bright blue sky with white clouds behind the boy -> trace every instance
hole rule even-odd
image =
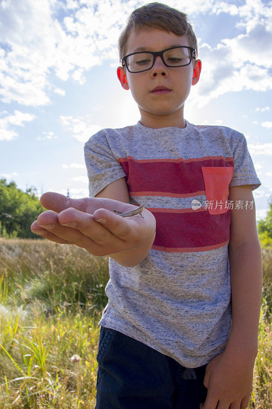
[[[88,196],[84,143],[140,120],[117,78],[118,37],[139,0],[0,0],[0,178],[37,195]],[[188,15],[202,62],[184,117],[245,135],[272,198],[272,2],[165,0]]]

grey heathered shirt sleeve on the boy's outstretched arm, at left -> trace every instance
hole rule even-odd
[[[95,133],[84,145],[85,163],[89,179],[89,197],[95,197],[111,182],[126,176],[112,153],[106,131]]]

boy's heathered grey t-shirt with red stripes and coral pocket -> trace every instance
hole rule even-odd
[[[222,352],[231,323],[229,186],[258,179],[242,133],[224,126],[102,129],[85,144],[89,195],[125,176],[130,203],[156,219],[149,255],[135,267],[109,258],[99,325],[187,368]],[[239,206],[250,206],[240,203]],[[139,216],[140,217],[140,216]]]

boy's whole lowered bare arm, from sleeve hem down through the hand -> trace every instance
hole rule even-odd
[[[232,328],[225,350],[207,365],[204,385],[208,394],[200,405],[203,409],[246,409],[258,352],[262,264],[251,186],[230,187],[229,200],[243,200],[242,209],[231,210]],[[244,208],[246,200],[253,200],[252,210]]]

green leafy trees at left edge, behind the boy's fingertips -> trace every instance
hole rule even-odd
[[[0,237],[37,237],[30,226],[45,209],[35,196],[36,192],[34,187],[23,192],[14,181],[7,183],[6,179],[0,179]]]

